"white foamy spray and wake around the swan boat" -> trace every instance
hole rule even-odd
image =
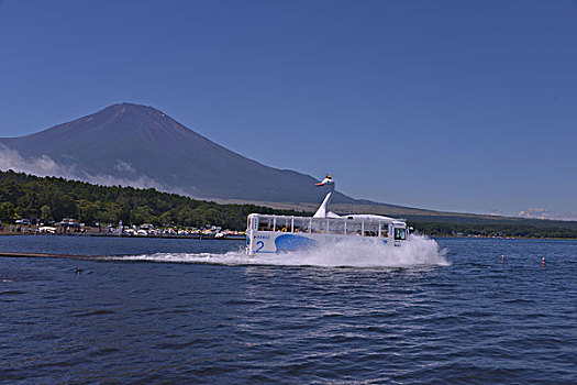
[[[319,249],[279,254],[247,256],[244,248],[224,254],[214,253],[156,253],[111,257],[121,261],[151,261],[177,263],[203,263],[222,265],[279,265],[279,266],[352,266],[352,267],[410,267],[450,266],[445,250],[429,238],[410,235],[401,248],[380,243],[346,240]]]

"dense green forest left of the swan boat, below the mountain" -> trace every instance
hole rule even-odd
[[[99,186],[60,177],[38,177],[13,170],[0,172],[0,220],[19,218],[60,221],[74,218],[96,223],[179,226],[207,224],[231,230],[246,228],[251,212],[303,216],[255,205],[219,205],[154,188]]]

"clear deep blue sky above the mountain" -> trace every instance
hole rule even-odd
[[[570,0],[0,2],[0,136],[121,101],[357,198],[577,212]]]

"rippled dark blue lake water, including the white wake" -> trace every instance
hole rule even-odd
[[[436,242],[1,237],[93,260],[0,257],[0,383],[577,383],[577,242]]]

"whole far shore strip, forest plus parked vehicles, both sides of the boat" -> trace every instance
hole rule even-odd
[[[153,188],[98,186],[12,170],[0,172],[0,220],[9,233],[228,239],[243,234],[246,217],[252,212],[312,215],[252,204],[221,205]],[[397,218],[406,219],[419,233],[431,237],[577,238],[577,221],[475,215],[399,215]],[[85,223],[84,228],[81,223]],[[219,227],[221,229],[217,230]]]

